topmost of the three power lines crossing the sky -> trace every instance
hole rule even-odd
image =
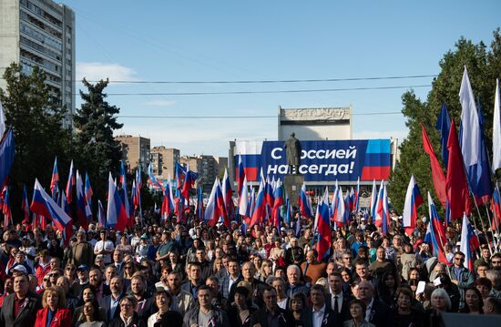
[[[348,78],[320,78],[320,79],[276,79],[276,80],[215,80],[215,81],[154,81],[154,80],[110,80],[115,84],[271,84],[271,83],[318,83],[318,82],[347,82],[363,80],[384,80],[384,79],[407,79],[437,77],[437,75],[408,75],[396,77],[348,77]],[[77,80],[81,83],[82,81]],[[98,81],[87,81],[97,83]]]

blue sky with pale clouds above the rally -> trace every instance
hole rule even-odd
[[[353,138],[402,140],[404,92],[425,99],[461,36],[490,44],[501,9],[497,0],[61,2],[76,13],[77,80],[110,79],[117,134],[223,157],[230,140],[277,139],[279,106],[353,106]],[[307,79],[323,81],[144,83]],[[255,93],[221,94],[240,91]]]

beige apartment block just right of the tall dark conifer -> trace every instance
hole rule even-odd
[[[142,171],[148,172],[150,162],[149,138],[119,135],[115,139],[122,145],[123,160],[128,165],[128,169],[134,170],[140,166]]]

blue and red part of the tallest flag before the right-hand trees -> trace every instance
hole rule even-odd
[[[466,167],[466,176],[469,181],[471,192],[475,196],[476,203],[481,205],[490,199],[492,194],[492,183],[489,158],[487,157],[486,138],[484,137],[485,119],[484,115],[482,115],[482,106],[480,105],[480,101],[476,107],[478,108],[478,122],[480,129],[480,148],[478,149],[480,157],[475,165]],[[461,128],[463,128],[463,125]]]

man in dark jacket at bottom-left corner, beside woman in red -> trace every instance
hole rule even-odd
[[[14,293],[5,297],[0,312],[0,326],[26,327],[35,325],[36,312],[42,308],[40,299],[30,293],[25,273],[15,273]]]

